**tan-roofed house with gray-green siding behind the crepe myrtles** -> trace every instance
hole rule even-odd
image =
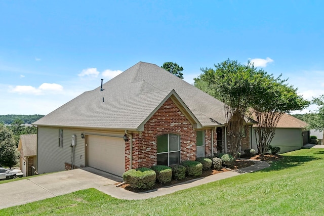
[[[289,114],[284,114],[276,126],[275,135],[270,145],[280,147],[279,153],[301,149],[303,145],[309,143],[309,131],[305,129],[306,127],[307,123],[304,121]],[[256,136],[253,130],[252,144],[252,148],[258,152]]]

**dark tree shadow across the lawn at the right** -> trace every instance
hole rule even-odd
[[[324,153],[324,151],[320,151]],[[320,154],[318,152],[318,154]],[[260,170],[260,172],[267,172],[272,170],[281,170],[281,169],[289,169],[296,166],[301,166],[304,163],[307,163],[312,160],[318,160],[320,158],[315,156],[282,156],[279,160],[275,160],[271,162],[269,168],[265,168]]]

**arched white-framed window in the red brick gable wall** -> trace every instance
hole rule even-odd
[[[164,134],[157,137],[157,165],[180,163],[180,136]]]

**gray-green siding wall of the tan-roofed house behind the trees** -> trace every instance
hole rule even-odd
[[[253,149],[258,151],[255,133],[252,133]],[[275,135],[271,141],[272,146],[280,147],[279,154],[301,149],[302,146],[302,132],[300,128],[276,128]]]

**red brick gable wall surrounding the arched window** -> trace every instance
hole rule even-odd
[[[195,160],[196,132],[189,120],[171,99],[168,99],[145,123],[141,134],[133,134],[133,167],[150,167],[157,163],[157,137],[180,135],[180,159]],[[209,141],[210,142],[210,141]],[[211,146],[209,144],[209,146]],[[206,147],[208,148],[208,147]],[[130,169],[130,142],[126,142],[126,170]]]

